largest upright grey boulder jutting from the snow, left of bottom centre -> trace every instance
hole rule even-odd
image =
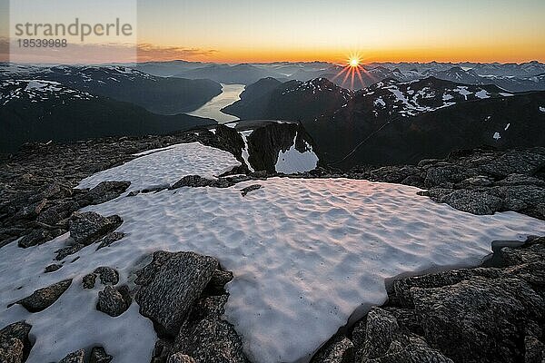
[[[175,336],[193,302],[212,279],[218,261],[193,252],[155,252],[136,284],[140,313]]]

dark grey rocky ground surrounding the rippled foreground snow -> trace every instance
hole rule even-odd
[[[127,182],[103,182],[92,190],[74,187],[85,177],[134,159],[134,153],[173,143],[199,141],[241,160],[237,132],[218,127],[170,136],[108,138],[71,144],[32,144],[5,157],[0,168],[0,248],[40,245],[64,233],[73,244],[56,251],[44,273],[62,269],[64,259],[90,245],[114,246],[118,216],[78,212],[127,190]],[[274,149],[272,147],[272,149]],[[276,152],[276,151],[274,151]],[[265,155],[266,156],[266,155]],[[266,160],[267,157],[263,157]],[[244,165],[244,164],[243,164]],[[170,186],[228,187],[275,172],[241,167],[217,181],[185,177]],[[338,172],[322,166],[300,177],[349,177],[426,188],[422,194],[461,211],[491,214],[519,211],[545,219],[545,149],[510,152],[476,150],[416,166],[361,168]],[[139,191],[153,192],[153,191]],[[342,329],[312,362],[540,362],[545,360],[545,240],[503,248],[499,260],[478,269],[453,270],[391,283],[388,303]],[[74,256],[74,259],[77,257]],[[61,262],[61,260],[64,260]],[[68,259],[69,260],[69,259]],[[493,265],[493,266],[490,266]],[[156,251],[137,272],[135,287],[119,284],[108,266],[85,276],[84,289],[100,287],[96,309],[111,317],[137,303],[151,319],[158,340],[154,362],[248,362],[241,338],[222,319],[233,274],[214,257],[191,251]],[[58,281],[15,301],[31,312],[48,309],[74,283]],[[1,328],[1,327],[0,327]],[[21,321],[0,330],[0,362],[24,362],[33,346],[32,326]],[[61,360],[109,362],[103,347],[82,347]]]

